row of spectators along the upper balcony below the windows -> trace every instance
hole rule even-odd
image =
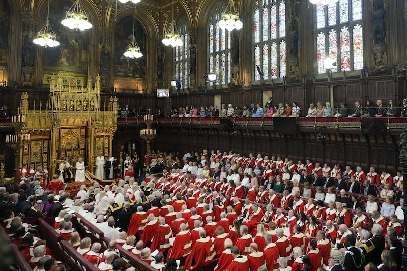
[[[383,104],[382,100],[367,100],[363,107],[360,101],[355,101],[355,107],[348,107],[344,102],[333,108],[330,102],[310,103],[309,108],[301,110],[297,102],[285,102],[273,105],[273,100],[269,100],[264,106],[260,103],[249,105],[221,104],[218,106],[184,106],[172,108],[169,112],[164,112],[161,108],[156,112],[158,117],[407,117],[407,98],[397,105],[392,99],[388,104]],[[146,110],[141,106],[138,110],[129,110],[128,105],[119,109],[118,116],[137,117],[143,116]]]

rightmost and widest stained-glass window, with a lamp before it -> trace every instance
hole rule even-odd
[[[336,61],[332,72],[363,68],[362,0],[339,0],[315,5],[317,73],[326,73],[327,57]]]

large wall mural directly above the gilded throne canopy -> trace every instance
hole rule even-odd
[[[45,48],[44,69],[84,74],[88,66],[90,31],[71,30],[61,24],[71,6],[71,2],[61,1],[49,9],[49,23],[60,46]]]

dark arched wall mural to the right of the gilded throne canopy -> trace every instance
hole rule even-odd
[[[146,34],[141,24],[135,20],[135,37],[142,57],[136,59],[123,55],[133,38],[133,16],[124,17],[116,26],[114,34],[114,76],[144,78],[146,76]]]

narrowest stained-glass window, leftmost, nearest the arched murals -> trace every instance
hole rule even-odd
[[[187,89],[189,82],[189,35],[187,18],[182,17],[177,22],[177,27],[180,33],[180,39],[184,44],[174,47],[174,79],[180,80],[182,89]]]

